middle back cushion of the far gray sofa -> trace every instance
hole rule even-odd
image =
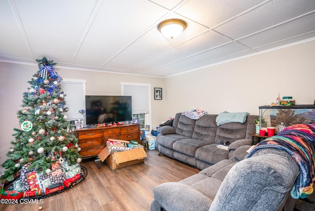
[[[217,133],[216,117],[218,115],[204,115],[196,121],[192,138],[215,143]]]

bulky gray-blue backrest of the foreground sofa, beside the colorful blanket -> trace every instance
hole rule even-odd
[[[277,210],[299,173],[298,165],[284,153],[266,153],[237,162],[209,211]]]

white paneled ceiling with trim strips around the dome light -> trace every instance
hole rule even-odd
[[[167,77],[313,39],[315,0],[0,0],[6,62]]]

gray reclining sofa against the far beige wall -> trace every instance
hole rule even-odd
[[[218,115],[203,115],[198,120],[178,113],[172,126],[158,128],[156,148],[166,156],[205,169],[233,157],[240,146],[251,145],[249,133],[255,133],[256,115],[246,117],[244,123],[229,122],[217,125]],[[228,150],[217,148],[220,142],[229,142]]]

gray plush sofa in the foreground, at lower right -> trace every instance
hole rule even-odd
[[[293,211],[296,162],[278,149],[258,150],[244,159],[250,147],[187,179],[159,184],[151,211]]]

